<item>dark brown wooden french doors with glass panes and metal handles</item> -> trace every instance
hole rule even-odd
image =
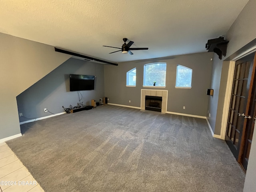
[[[256,117],[255,53],[236,61],[226,143],[246,170]]]

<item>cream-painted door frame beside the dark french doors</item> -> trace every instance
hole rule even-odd
[[[228,112],[229,112],[229,106],[230,106],[230,98],[232,93],[232,86],[233,86],[233,78],[234,78],[234,71],[235,71],[235,64],[237,60],[240,60],[241,58],[248,56],[249,54],[256,52],[256,46],[253,46],[249,48],[248,50],[242,52],[238,56],[231,58],[229,61],[223,61],[222,64],[225,64],[225,62],[228,62],[228,81],[226,86],[226,92],[224,97],[224,104],[223,104],[223,111],[222,111],[222,121],[221,121],[221,129],[220,129],[220,136],[218,138],[225,140],[226,135],[226,128],[227,128],[227,122],[228,122]]]

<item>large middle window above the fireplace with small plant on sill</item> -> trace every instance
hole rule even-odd
[[[166,63],[150,63],[144,65],[143,86],[165,87]]]

